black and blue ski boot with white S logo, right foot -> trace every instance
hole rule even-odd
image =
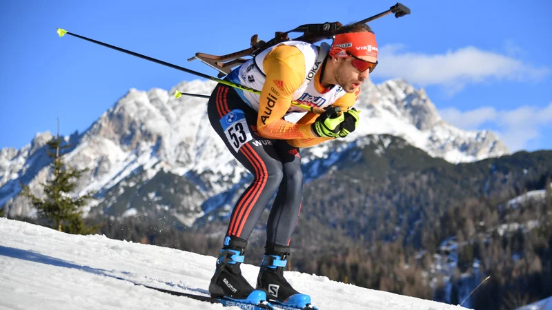
[[[266,250],[259,276],[257,289],[268,292],[268,299],[276,306],[285,309],[317,309],[311,304],[311,296],[299,293],[284,278],[286,257],[290,254],[290,247],[283,245],[266,245]]]

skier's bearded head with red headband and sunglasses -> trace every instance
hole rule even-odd
[[[345,25],[335,33],[329,56],[333,82],[354,92],[377,65],[375,34],[366,23]]]

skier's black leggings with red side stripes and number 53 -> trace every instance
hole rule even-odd
[[[289,245],[301,211],[303,174],[299,149],[256,132],[257,112],[232,87],[217,85],[208,103],[209,121],[233,156],[253,174],[239,197],[226,236],[248,240],[268,200],[278,191],[266,227],[266,244]]]

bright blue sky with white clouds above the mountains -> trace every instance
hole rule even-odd
[[[208,6],[205,4],[208,3]],[[423,87],[466,130],[493,130],[515,152],[552,149],[550,1],[404,1],[407,17],[370,23],[380,45],[375,83]],[[226,54],[253,34],[304,23],[350,23],[393,1],[0,1],[0,148],[37,132],[83,132],[134,87],[166,90],[195,76],[56,29],[216,75],[195,52]],[[206,120],[207,121],[207,120]]]

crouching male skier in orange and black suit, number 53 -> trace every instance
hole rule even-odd
[[[257,303],[272,300],[306,308],[311,298],[283,276],[290,239],[302,205],[299,147],[309,147],[353,132],[359,120],[351,109],[360,85],[377,65],[377,43],[365,23],[339,28],[332,45],[286,41],[264,50],[226,79],[261,94],[218,84],[208,102],[211,125],[226,147],[253,174],[230,216],[209,292]],[[326,109],[307,112],[296,123],[284,116],[304,112],[292,101]],[[268,200],[277,192],[266,228],[266,246],[256,288],[242,276],[244,249]]]

